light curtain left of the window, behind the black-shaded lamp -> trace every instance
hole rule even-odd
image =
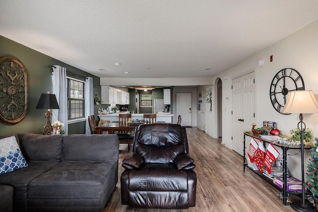
[[[60,121],[64,124],[65,135],[68,135],[68,94],[66,68],[53,66],[53,94],[55,94],[60,109],[52,110],[52,123]]]

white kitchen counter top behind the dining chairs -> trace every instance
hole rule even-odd
[[[109,114],[100,114],[98,115],[99,119],[108,120],[110,122],[118,122],[118,115],[119,114],[129,114],[129,112],[119,112],[119,113],[109,113]],[[173,114],[164,113],[164,114],[157,114],[157,123],[164,122],[164,123],[172,123],[172,116]],[[144,114],[131,114],[131,118],[133,120],[144,119]]]

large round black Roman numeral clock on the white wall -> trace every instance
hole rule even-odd
[[[289,91],[305,90],[303,77],[295,69],[287,68],[278,71],[271,84],[269,96],[275,110],[281,114],[286,104]]]

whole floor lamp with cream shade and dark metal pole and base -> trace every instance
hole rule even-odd
[[[311,90],[291,91],[282,113],[299,113],[298,130],[301,133],[302,152],[302,197],[303,202],[293,202],[291,207],[297,212],[316,212],[312,204],[305,203],[305,170],[304,170],[304,131],[306,124],[303,122],[303,114],[318,113],[318,102]]]

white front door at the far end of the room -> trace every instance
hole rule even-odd
[[[176,116],[181,116],[181,126],[192,126],[191,111],[191,93],[177,93]]]

